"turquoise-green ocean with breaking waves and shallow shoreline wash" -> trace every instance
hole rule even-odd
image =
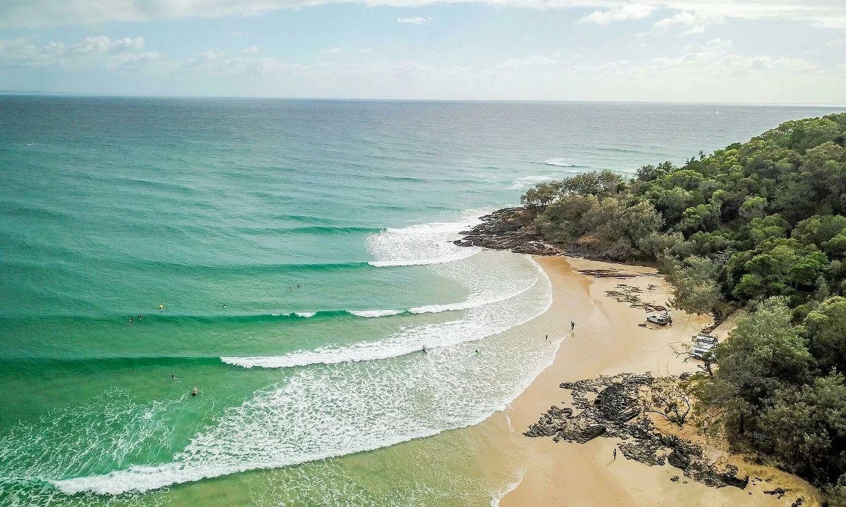
[[[552,292],[459,232],[837,111],[0,96],[0,505],[496,504]]]

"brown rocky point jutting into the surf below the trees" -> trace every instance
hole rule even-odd
[[[535,232],[525,208],[503,208],[481,217],[481,224],[463,231],[460,247],[484,247],[511,250],[517,254],[558,255],[561,249],[544,243]]]

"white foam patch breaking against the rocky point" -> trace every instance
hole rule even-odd
[[[368,264],[376,267],[443,264],[466,259],[481,251],[479,247],[459,247],[452,242],[459,232],[480,223],[473,216],[456,222],[432,222],[400,229],[386,229],[368,238],[368,248],[376,257]]]

